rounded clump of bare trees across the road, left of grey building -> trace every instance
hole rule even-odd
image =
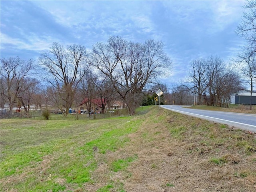
[[[198,95],[199,104],[202,96],[208,105],[223,106],[230,94],[241,88],[240,76],[234,69],[228,68],[218,56],[196,59],[191,62],[188,83],[192,93]]]

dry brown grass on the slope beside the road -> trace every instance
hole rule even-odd
[[[164,123],[156,120],[162,116],[167,116]],[[172,134],[177,127],[184,130]],[[126,192],[254,192],[256,153],[246,153],[239,142],[255,144],[255,138],[255,134],[161,110],[130,134],[128,146],[107,154],[107,161],[94,172],[97,184],[86,184],[86,189],[95,191],[113,181],[122,182]],[[126,171],[109,172],[108,162],[131,154],[138,154],[138,160]],[[212,162],[214,157],[224,163]]]

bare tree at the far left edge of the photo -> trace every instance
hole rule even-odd
[[[16,58],[1,59],[1,84],[5,84],[4,89],[1,90],[1,97],[4,96],[7,98],[10,114],[12,114],[12,109],[18,102],[18,97],[20,97],[26,77],[34,69],[33,59],[25,61],[18,56]]]

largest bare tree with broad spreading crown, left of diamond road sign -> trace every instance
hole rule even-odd
[[[171,67],[162,42],[147,40],[140,44],[119,36],[111,36],[107,43],[94,45],[90,64],[109,78],[126,102],[130,115],[139,106],[146,84],[154,82],[157,76]]]

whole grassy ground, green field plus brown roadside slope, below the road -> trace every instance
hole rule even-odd
[[[1,120],[3,192],[254,192],[256,134],[158,107]]]

